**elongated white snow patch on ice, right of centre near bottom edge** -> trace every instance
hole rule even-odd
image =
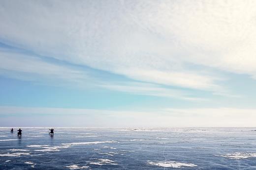
[[[197,165],[194,165],[194,164],[180,163],[180,162],[175,162],[175,161],[148,162],[148,164],[159,166],[159,167],[165,167],[165,168],[197,167]]]

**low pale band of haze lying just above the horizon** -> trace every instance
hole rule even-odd
[[[1,119],[1,126],[15,127],[255,127],[255,113],[255,109],[234,108],[164,109],[159,111],[134,112],[0,107],[0,114],[9,115]]]

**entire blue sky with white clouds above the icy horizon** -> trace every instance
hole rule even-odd
[[[0,126],[254,127],[255,0],[1,0]]]

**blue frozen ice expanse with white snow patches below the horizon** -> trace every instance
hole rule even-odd
[[[0,170],[256,170],[255,128],[0,127]]]

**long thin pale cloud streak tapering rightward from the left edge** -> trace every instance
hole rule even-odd
[[[134,95],[205,100],[198,97],[190,97],[192,94],[185,93],[182,90],[161,87],[157,84],[133,81],[122,82],[114,79],[102,80],[98,73],[48,62],[39,57],[15,51],[0,50],[0,60],[2,61],[0,63],[0,74],[33,83],[76,87],[79,89],[97,87]]]

